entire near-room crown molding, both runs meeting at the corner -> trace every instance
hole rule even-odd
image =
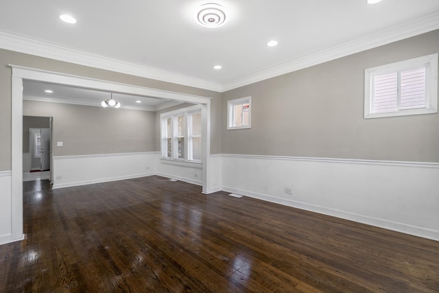
[[[438,29],[439,10],[435,10],[434,12],[411,19],[405,23],[399,23],[385,30],[360,36],[354,40],[349,40],[345,43],[315,51],[287,62],[282,62],[261,71],[244,75],[241,78],[230,80],[230,82],[226,82],[225,84],[200,80],[162,69],[136,65],[130,62],[91,54],[70,47],[45,43],[40,40],[25,38],[7,32],[0,32],[0,47],[25,54],[72,62],[78,65],[137,75],[143,78],[151,78],[185,86],[193,86],[210,91],[224,92]]]

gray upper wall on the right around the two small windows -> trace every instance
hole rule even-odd
[[[222,153],[439,162],[439,115],[364,119],[364,69],[438,53],[439,30],[223,93],[252,97],[252,128]]]

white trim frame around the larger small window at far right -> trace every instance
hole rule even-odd
[[[372,113],[372,78],[396,71],[405,71],[425,65],[425,106],[426,108],[396,110],[385,113]],[[438,54],[431,54],[400,62],[368,68],[364,71],[364,119],[380,117],[396,117],[405,115],[421,115],[438,113]]]

